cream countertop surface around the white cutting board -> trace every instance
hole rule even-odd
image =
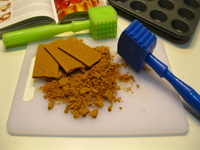
[[[123,31],[133,19],[119,12],[118,30]],[[195,33],[189,40],[176,40],[152,27],[148,29],[154,32],[157,38],[164,43],[174,75],[200,93],[200,21]],[[65,36],[65,34],[60,36]],[[10,135],[7,131],[6,123],[25,52],[26,46],[6,49],[2,40],[0,41],[1,150],[200,149],[200,116],[196,115],[185,104],[189,129],[184,135],[133,137],[38,137]]]

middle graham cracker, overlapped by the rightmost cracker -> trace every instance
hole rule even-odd
[[[46,44],[45,49],[59,63],[59,65],[65,70],[67,74],[76,69],[85,68],[85,66],[81,62],[77,61],[65,52],[58,49],[58,46],[62,43],[64,43],[63,39],[56,40],[54,42]]]

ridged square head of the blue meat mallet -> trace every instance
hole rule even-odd
[[[152,53],[157,43],[155,34],[134,20],[121,34],[118,54],[137,72],[145,65],[145,58]]]

